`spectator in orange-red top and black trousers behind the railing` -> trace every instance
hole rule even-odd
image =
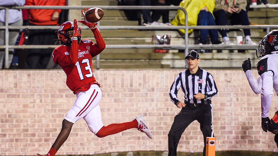
[[[65,6],[65,0],[26,0],[26,5],[34,6]],[[58,26],[61,9],[29,9],[31,26]],[[54,45],[57,33],[52,29],[30,30],[29,45]],[[29,49],[26,58],[28,69],[45,69],[52,56],[53,48]]]

